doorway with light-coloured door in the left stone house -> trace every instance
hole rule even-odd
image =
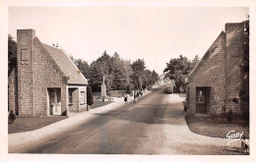
[[[50,115],[61,115],[61,89],[48,88]]]

